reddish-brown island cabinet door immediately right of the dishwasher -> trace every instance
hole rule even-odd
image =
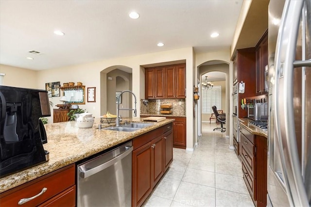
[[[141,206],[153,188],[153,163],[149,142],[133,151],[132,206]]]

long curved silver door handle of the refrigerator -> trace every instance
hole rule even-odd
[[[304,187],[294,125],[294,62],[304,1],[286,1],[276,42],[274,125],[279,143],[285,187],[291,206],[310,206]]]

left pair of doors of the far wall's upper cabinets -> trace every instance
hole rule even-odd
[[[145,71],[145,97],[147,99],[165,98],[164,68],[154,67]]]

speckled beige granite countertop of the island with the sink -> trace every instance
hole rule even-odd
[[[127,120],[142,122],[141,118]],[[34,180],[42,175],[49,174],[81,159],[85,159],[119,143],[129,141],[173,121],[174,119],[166,119],[161,122],[152,122],[154,125],[133,132],[104,129],[105,127],[115,126],[115,122],[110,123],[110,125],[104,122],[102,124],[103,128],[98,129],[100,118],[95,119],[92,128],[78,128],[75,121],[46,124],[48,143],[43,144],[43,147],[50,152],[50,160],[1,178],[0,193]]]

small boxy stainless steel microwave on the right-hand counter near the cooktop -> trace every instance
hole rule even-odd
[[[248,105],[248,118],[256,121],[268,120],[268,103],[253,103]]]

